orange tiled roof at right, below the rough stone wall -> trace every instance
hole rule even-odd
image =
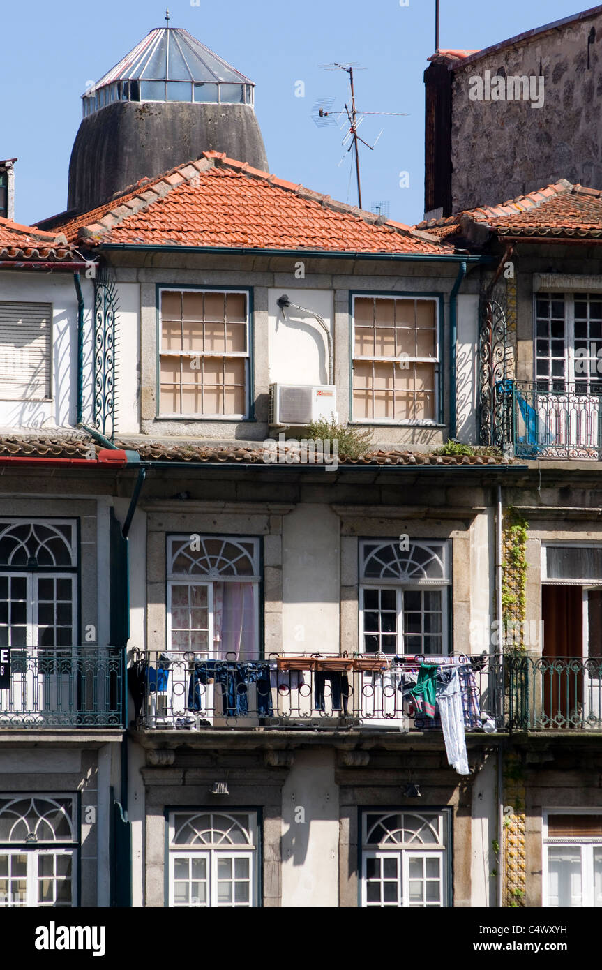
[[[469,223],[488,226],[501,237],[602,240],[602,189],[573,185],[566,178],[498,206],[481,206],[416,228],[442,240],[467,231]]]

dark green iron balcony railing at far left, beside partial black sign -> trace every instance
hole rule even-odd
[[[123,727],[124,652],[13,647],[0,665],[0,731]]]

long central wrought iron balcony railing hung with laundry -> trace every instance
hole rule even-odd
[[[128,670],[135,723],[142,728],[377,727],[441,729],[404,689],[420,658],[273,657],[264,661],[198,659],[191,654],[139,653]],[[460,663],[466,730],[503,727],[499,658],[432,658]]]

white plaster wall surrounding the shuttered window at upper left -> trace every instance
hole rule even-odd
[[[80,275],[84,328],[94,306],[91,280]],[[78,298],[72,273],[0,274],[0,300],[52,305],[52,361],[49,401],[0,401],[0,431],[65,428],[75,425],[78,376]]]

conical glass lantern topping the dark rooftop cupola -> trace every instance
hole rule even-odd
[[[87,117],[116,101],[254,105],[253,81],[187,30],[158,27],[81,96]]]

